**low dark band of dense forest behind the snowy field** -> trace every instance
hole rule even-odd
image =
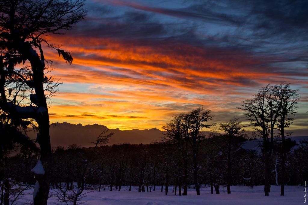
[[[211,193],[219,194],[231,185],[257,186],[265,184],[264,156],[258,150],[242,148],[243,143],[251,140],[241,132],[230,135],[230,128],[237,126],[230,120],[220,126],[228,128],[223,134],[213,133],[202,139],[197,153],[197,184],[211,187]],[[238,130],[237,127],[234,130]],[[105,137],[103,137],[105,139]],[[66,148],[58,146],[52,149],[53,161],[50,186],[57,192],[60,202],[76,202],[82,198],[82,190],[96,191],[163,191],[165,194],[187,195],[188,189],[196,189],[194,173],[193,147],[164,138],[153,144],[115,144],[81,148],[72,144]],[[269,159],[269,183],[303,185],[307,180],[308,141],[301,141],[292,152],[286,153],[285,177],[282,181],[282,169],[277,161],[282,159],[280,152],[273,151]],[[19,193],[15,185],[35,184],[34,173],[30,170],[37,163],[39,154],[28,150],[4,159],[7,180],[1,183],[1,199],[12,201]],[[279,175],[276,181],[276,176]],[[173,186],[173,188],[169,188]],[[137,190],[134,189],[137,187]],[[20,192],[22,187],[20,187]],[[78,195],[80,193],[80,195]],[[200,192],[199,192],[200,193]],[[5,195],[7,194],[7,195]],[[22,196],[22,195],[20,195]],[[78,198],[79,197],[79,198]]]

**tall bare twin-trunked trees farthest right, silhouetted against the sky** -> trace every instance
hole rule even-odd
[[[241,110],[244,116],[254,126],[259,136],[263,139],[262,153],[264,157],[264,193],[265,196],[270,192],[270,157],[274,149],[274,130],[278,130],[282,137],[281,151],[281,195],[284,190],[284,175],[286,153],[295,145],[290,139],[286,140],[284,128],[293,123],[290,115],[295,114],[296,104],[298,103],[299,94],[297,90],[290,89],[290,84],[270,86],[267,85],[254,94],[253,98],[244,101]],[[279,149],[279,148],[278,148]]]

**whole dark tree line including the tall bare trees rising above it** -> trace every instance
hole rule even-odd
[[[84,190],[121,191],[123,186],[128,191],[138,187],[139,192],[160,186],[167,195],[173,185],[175,195],[187,195],[189,188],[200,195],[200,187],[206,186],[212,194],[214,190],[219,194],[222,187],[230,194],[231,185],[264,185],[266,196],[271,184],[280,184],[284,195],[285,184],[302,185],[307,179],[308,141],[296,144],[284,131],[294,122],[298,100],[297,90],[289,84],[267,85],[239,107],[248,124],[235,117],[213,124],[212,112],[201,106],[173,116],[162,127],[164,136],[152,144],[105,145],[113,133],[104,130],[94,147],[71,144],[52,148],[49,186],[57,190],[59,201],[74,204]],[[6,130],[4,119],[1,128]],[[254,137],[245,131],[249,127],[254,129]],[[261,139],[259,150],[243,147],[256,138]],[[20,142],[5,145],[1,150],[1,202],[7,204],[10,195],[22,195],[22,191],[10,191],[11,183],[35,183],[31,170],[40,153],[35,146]],[[10,156],[17,148],[20,153]]]

